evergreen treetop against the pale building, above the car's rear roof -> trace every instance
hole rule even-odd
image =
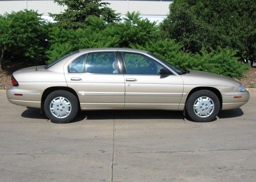
[[[103,17],[106,23],[119,20],[119,14],[107,6],[109,3],[101,2],[101,0],[55,0],[54,2],[67,6],[63,13],[50,13],[61,28],[84,28],[88,25],[87,18],[91,15]]]

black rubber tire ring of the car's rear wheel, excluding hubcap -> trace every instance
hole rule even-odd
[[[52,113],[50,111],[50,103],[56,97],[65,97],[71,103],[72,109],[71,109],[71,113],[69,114],[68,117],[56,118],[55,116],[52,115]],[[53,123],[69,123],[76,117],[76,115],[78,113],[78,109],[79,109],[78,100],[72,93],[70,93],[66,90],[55,90],[47,96],[45,103],[44,103],[44,109],[45,109],[46,116]]]

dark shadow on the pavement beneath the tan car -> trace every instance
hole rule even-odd
[[[244,114],[242,109],[222,110],[218,117],[224,118],[236,118]],[[28,108],[22,113],[24,118],[32,119],[45,119],[49,120],[45,113],[40,113],[40,109]],[[87,110],[79,111],[77,117],[73,120],[79,122],[82,120],[110,120],[110,119],[126,119],[126,120],[137,120],[137,119],[180,119],[192,121],[188,117],[184,117],[182,111],[172,110]],[[217,120],[217,118],[215,119]],[[214,120],[214,121],[215,121]]]

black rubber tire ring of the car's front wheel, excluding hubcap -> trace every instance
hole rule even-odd
[[[215,105],[214,111],[207,118],[200,118],[194,112],[194,103],[200,97],[209,97]],[[186,102],[186,112],[190,119],[196,122],[210,122],[213,121],[220,111],[220,100],[217,95],[210,90],[198,90],[195,93],[191,94]]]

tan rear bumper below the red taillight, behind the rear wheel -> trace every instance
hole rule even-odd
[[[19,89],[13,86],[6,90],[6,96],[8,101],[13,104],[41,108],[42,90]]]

